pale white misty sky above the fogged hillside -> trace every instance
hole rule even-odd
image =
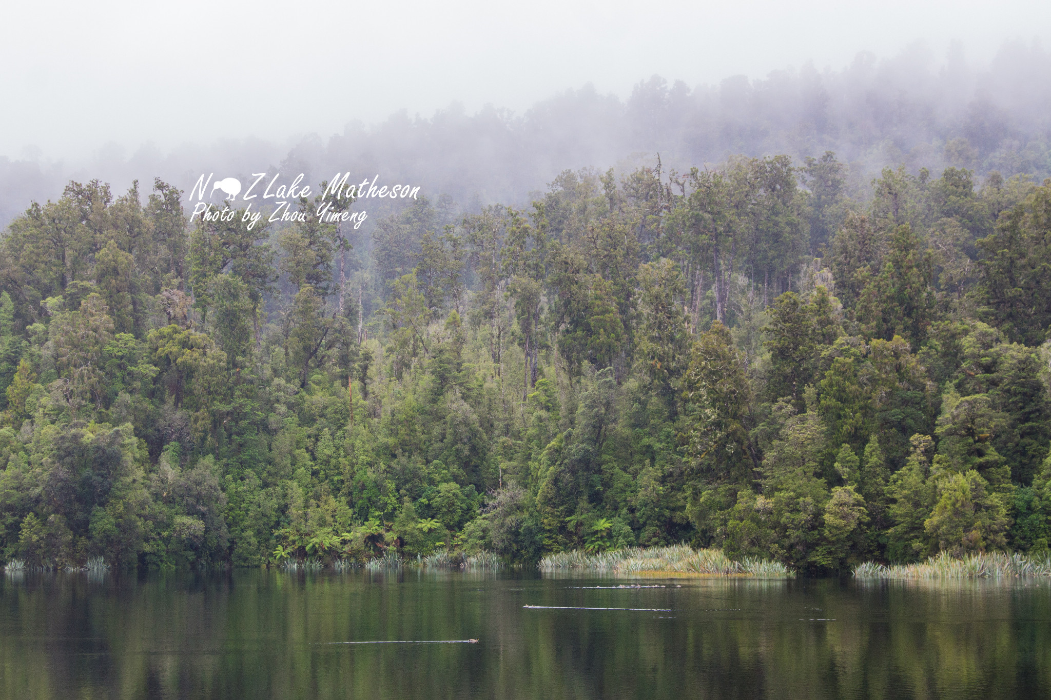
[[[327,136],[398,109],[515,111],[593,83],[625,97],[812,60],[840,69],[953,40],[974,62],[1051,38],[1051,2],[14,2],[0,41],[0,155]],[[36,150],[36,149],[39,149]]]

